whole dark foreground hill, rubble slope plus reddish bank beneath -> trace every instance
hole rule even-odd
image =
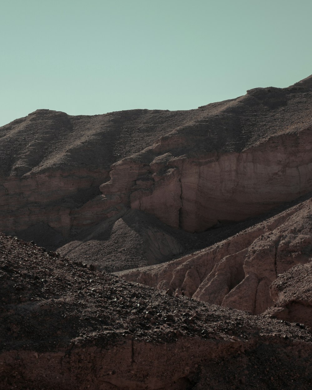
[[[1,389],[309,389],[312,336],[0,235]],[[226,369],[225,369],[226,367]]]

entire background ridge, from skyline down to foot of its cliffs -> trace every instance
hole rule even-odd
[[[0,129],[0,226],[52,247],[44,225],[57,248],[129,209],[198,232],[296,199],[312,190],[310,80],[190,111],[17,119]]]

